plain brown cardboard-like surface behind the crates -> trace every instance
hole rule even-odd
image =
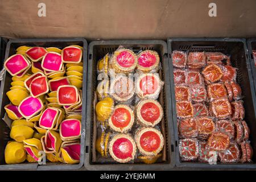
[[[46,3],[46,17],[38,3]],[[208,5],[217,4],[217,17]],[[255,0],[0,0],[0,36],[166,39],[256,37]]]

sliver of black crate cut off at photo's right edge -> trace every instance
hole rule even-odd
[[[256,92],[256,66],[255,66],[255,63],[256,63],[256,39],[248,39],[247,47],[248,47],[248,51],[249,51],[251,72],[253,74],[254,89]]]

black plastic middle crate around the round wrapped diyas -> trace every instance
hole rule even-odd
[[[159,71],[160,78],[164,81],[164,86],[160,92],[159,102],[163,107],[164,117],[160,122],[160,128],[164,137],[163,156],[160,162],[153,164],[137,163],[117,163],[113,159],[98,159],[96,151],[97,122],[95,105],[97,102],[97,62],[106,55],[113,53],[119,46],[129,48],[135,53],[144,50],[154,50],[160,56],[162,69]],[[88,85],[86,109],[86,137],[85,137],[85,168],[88,170],[164,170],[171,169],[175,163],[174,135],[171,122],[171,102],[170,102],[170,75],[167,57],[167,44],[161,40],[109,40],[93,41],[89,44],[88,53]]]

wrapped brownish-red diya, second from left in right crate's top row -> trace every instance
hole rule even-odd
[[[204,52],[189,52],[188,53],[188,68],[199,69],[206,64],[206,55]]]

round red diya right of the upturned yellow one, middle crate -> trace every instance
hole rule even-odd
[[[126,105],[117,105],[109,118],[110,129],[126,133],[133,127],[134,114],[133,110]]]

